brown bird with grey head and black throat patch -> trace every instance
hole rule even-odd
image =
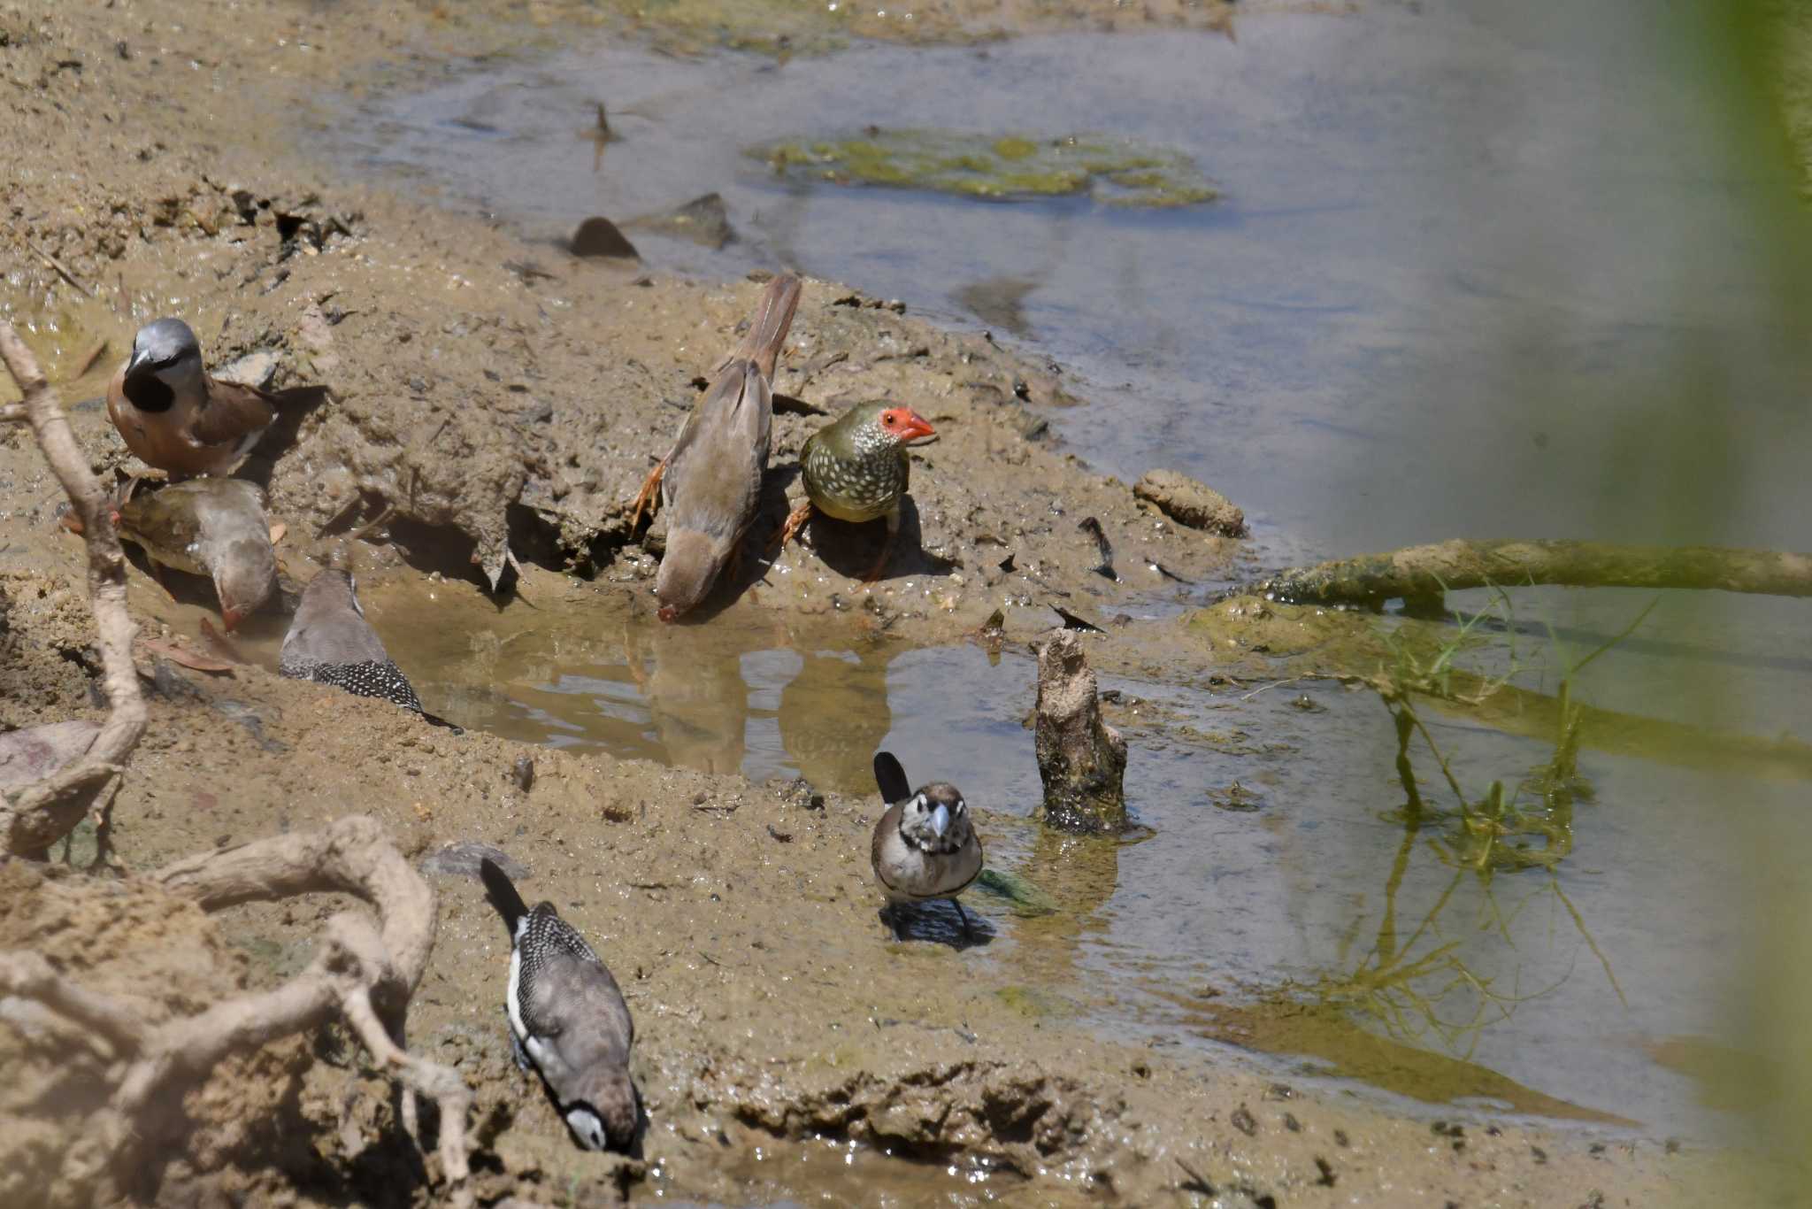
[[[132,355],[107,386],[107,415],[145,464],[172,475],[225,475],[277,419],[277,397],[212,377],[196,334],[165,317],[132,339]]]

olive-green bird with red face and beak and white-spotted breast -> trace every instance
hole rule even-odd
[[[786,517],[776,546],[786,546],[814,508],[852,524],[886,518],[881,556],[863,576],[870,584],[881,578],[901,527],[901,500],[911,475],[906,446],[935,435],[937,430],[922,415],[886,401],[859,402],[819,428],[799,450],[806,502]]]

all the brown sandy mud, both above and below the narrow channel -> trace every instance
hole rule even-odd
[[[564,4],[500,9],[5,4],[0,305],[45,357],[103,471],[125,453],[94,395],[154,314],[190,317],[216,363],[266,350],[279,386],[326,384],[332,399],[308,395],[248,468],[268,479],[272,513],[290,527],[292,578],[306,578],[348,529],[379,522],[373,537],[390,540],[361,544],[359,558],[366,576],[391,578],[373,587],[382,600],[406,600],[400,584],[439,571],[444,591],[477,605],[473,564],[496,571],[507,547],[525,567],[506,609],[565,591],[560,569],[571,566],[591,576],[583,591],[600,616],[647,611],[660,526],[631,542],[627,500],[759,286],[582,265],[328,179],[288,141],[290,112],[375,60],[556,38],[582,15]],[[964,34],[998,20],[980,5],[939,11],[960,15],[951,29]],[[1125,20],[1118,5],[1064,13],[1075,24]],[[1049,11],[1040,20],[1058,22]],[[882,585],[850,578],[877,535],[828,527],[815,551],[794,547],[772,569],[750,560],[719,602],[765,576],[739,609],[785,625],[850,613],[837,624],[920,642],[973,631],[1006,605],[1020,638],[1047,624],[1051,602],[1111,620],[1161,595],[1147,560],[1194,580],[1238,573],[1236,542],[1178,529],[1127,484],[1053,448],[1038,421],[1064,401],[1062,375],[982,337],[814,281],[779,390],[821,410],[901,397],[944,439],[920,457],[908,553]],[[777,417],[777,468],[817,422]],[[779,488],[799,493],[785,473],[774,479],[757,540],[785,515]],[[54,524],[58,500],[29,437],[0,435],[4,727],[96,716],[92,627],[78,546]],[[1084,517],[1113,537],[1127,582],[1093,575]],[[143,614],[169,614],[138,575],[132,593]],[[283,618],[265,625],[281,633]],[[502,926],[475,881],[435,877],[440,933],[411,1042],[457,1062],[477,1089],[486,1198],[1712,1204],[1743,1165],[1509,1124],[1430,1131],[1031,1011],[973,977],[962,950],[888,939],[868,885],[868,799],[455,738],[261,667],[163,667],[158,680],[150,732],[114,808],[129,868],[371,814],[422,857],[462,841],[507,850],[533,870],[524,892],[553,899],[616,970],[638,1019],[636,1075],[652,1117],[641,1160],[578,1153],[515,1071]],[[525,754],[536,769],[529,792],[515,779]],[[18,866],[0,868],[0,944],[38,946],[109,986],[167,986],[167,1010],[301,966],[315,923],[294,906],[205,921],[132,879],[45,885]],[[1040,935],[1036,923],[1006,917],[995,926],[1024,926],[1040,939],[1046,977],[1064,977],[1062,928]],[[0,1064],[54,1078],[54,1042],[9,1022]],[[266,1204],[428,1200],[386,1084],[348,1048],[319,1049],[312,1064],[284,1051],[255,1073],[223,1071],[214,1098],[188,1106],[196,1144],[172,1165],[163,1200],[196,1204],[207,1189]],[[87,1080],[91,1097],[100,1071],[67,1077]],[[0,1138],[36,1164],[7,1156],[0,1169],[47,1171],[56,1131],[80,1129],[83,1095],[0,1100]],[[221,1136],[223,1122],[265,1117],[281,1127]],[[31,1129],[16,1131],[25,1118]],[[31,1180],[0,1187],[7,1204],[49,1200]],[[58,1204],[80,1200],[63,1193]]]

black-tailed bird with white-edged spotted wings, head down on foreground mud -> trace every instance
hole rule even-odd
[[[640,1097],[629,1077],[636,1024],[616,979],[553,903],[535,910],[484,857],[478,877],[509,928],[504,1010],[516,1066],[542,1077],[547,1097],[587,1151],[629,1151]]]

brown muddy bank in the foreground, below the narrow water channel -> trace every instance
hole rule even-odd
[[[986,948],[888,939],[861,861],[866,799],[814,805],[805,787],[556,750],[533,752],[524,794],[515,743],[448,738],[393,707],[257,669],[165,680],[196,696],[152,705],[114,808],[130,866],[313,828],[355,807],[413,859],[458,841],[504,848],[529,868],[525,894],[554,897],[616,968],[654,1122],[643,1164],[571,1147],[507,1055],[502,924],[473,879],[431,879],[440,933],[411,1037],[477,1089],[486,1196],[661,1189],[745,1204],[763,1187],[817,1187],[792,1165],[830,1165],[808,1156],[848,1142],[910,1160],[893,1173],[863,1158],[866,1187],[897,1189],[901,1204],[964,1189],[1154,1204],[1189,1193],[1196,1175],[1223,1204],[1571,1204],[1589,1187],[1647,1202],[1729,1178],[1714,1155],[1584,1133],[1477,1122],[1433,1135],[1200,1057],[1102,1040],[1038,990],[1064,981],[1053,962],[1067,924],[1018,979],[964,975]],[[27,901],[33,886],[14,881],[7,892]],[[82,885],[105,897],[134,883]],[[997,901],[973,906],[995,944],[1026,926]],[[239,977],[274,982],[306,962],[312,917],[306,904],[230,912]],[[121,919],[105,948],[156,953],[159,926]],[[98,961],[85,941],[45,948],[74,968]],[[395,1175],[388,1091],[355,1057],[313,1066],[290,1111],[315,1136],[308,1156],[277,1160],[301,1204],[312,1187],[375,1194],[361,1180]],[[243,1151],[234,1162],[243,1167],[223,1180],[272,1178]],[[1404,1202],[1402,1189],[1417,1191]]]

